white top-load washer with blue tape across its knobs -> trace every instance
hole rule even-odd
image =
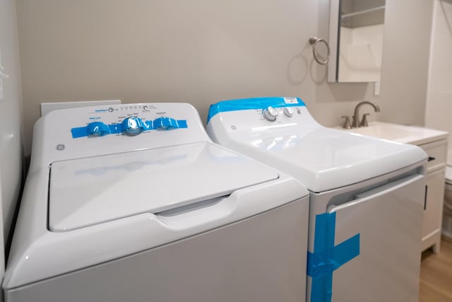
[[[4,296],[304,301],[308,196],[213,144],[189,104],[50,112],[35,124]]]

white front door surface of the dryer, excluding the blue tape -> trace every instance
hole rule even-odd
[[[332,301],[417,301],[424,187],[413,175],[328,210],[335,245],[360,237],[359,255],[333,272]]]

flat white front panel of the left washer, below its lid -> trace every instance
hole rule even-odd
[[[306,197],[185,240],[18,286],[6,291],[6,301],[304,301],[307,232],[294,230],[307,228],[307,207]]]

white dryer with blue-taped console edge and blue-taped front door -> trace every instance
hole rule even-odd
[[[307,301],[417,301],[422,149],[322,127],[299,98],[217,103],[207,132],[310,191]]]

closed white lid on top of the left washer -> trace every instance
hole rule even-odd
[[[50,173],[49,228],[157,213],[277,178],[267,165],[205,142],[60,161]]]

